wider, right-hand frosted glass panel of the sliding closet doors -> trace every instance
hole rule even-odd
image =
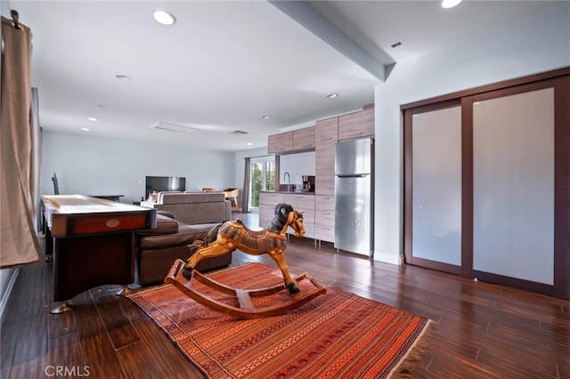
[[[473,269],[554,281],[554,90],[473,106]]]

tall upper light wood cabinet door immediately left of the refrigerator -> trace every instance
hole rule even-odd
[[[338,117],[317,121],[315,128],[314,192],[316,195],[334,195]]]

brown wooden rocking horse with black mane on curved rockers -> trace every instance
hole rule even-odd
[[[286,233],[289,227],[295,230],[295,237],[303,237],[305,235],[303,212],[297,212],[288,204],[278,204],[275,206],[275,217],[270,226],[265,230],[249,230],[239,219],[235,222],[219,224],[210,230],[208,237],[200,242],[198,246],[189,246],[191,248],[197,247],[197,250],[190,259],[188,259],[187,263],[184,263],[180,259],[175,261],[167,278],[165,278],[165,283],[174,285],[181,290],[183,294],[186,294],[191,297],[191,299],[208,308],[224,312],[238,319],[263,318],[297,309],[320,294],[324,294],[326,289],[306,273],[296,278],[291,277],[289,267],[287,266],[287,262],[285,262],[285,248],[287,247]],[[216,237],[216,239],[211,242],[214,237]],[[194,270],[198,262],[203,258],[220,256],[235,249],[240,249],[240,251],[252,255],[269,254],[269,256],[273,258],[273,261],[279,266],[284,283],[253,290],[237,289],[225,286]],[[308,279],[314,288],[303,291],[299,289],[297,284],[304,279]],[[199,293],[192,287],[194,280],[218,292],[234,296],[240,303],[240,307],[234,307],[224,302],[216,301],[205,294]],[[256,308],[251,301],[252,297],[276,294],[285,289],[287,289],[290,294],[290,300],[287,302],[267,306],[265,308]]]

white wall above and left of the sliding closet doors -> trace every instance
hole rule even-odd
[[[375,259],[403,259],[400,105],[570,65],[570,4],[395,65],[375,88]]]

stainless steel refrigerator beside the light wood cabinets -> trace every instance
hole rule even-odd
[[[374,254],[374,140],[342,141],[335,154],[335,247]]]

